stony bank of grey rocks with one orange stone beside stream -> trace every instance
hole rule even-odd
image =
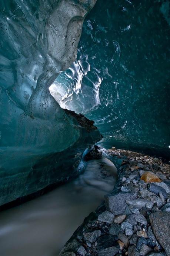
[[[60,256],[170,256],[169,163],[115,148],[104,154],[117,167],[117,184]]]

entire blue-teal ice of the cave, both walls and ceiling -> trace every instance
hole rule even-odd
[[[169,31],[166,0],[1,0],[0,204],[100,140],[64,109],[105,147],[170,156]]]

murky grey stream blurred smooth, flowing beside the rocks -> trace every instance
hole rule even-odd
[[[77,179],[0,213],[0,256],[58,256],[60,250],[110,192],[114,164],[90,160]]]

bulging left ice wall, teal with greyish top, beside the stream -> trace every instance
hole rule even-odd
[[[65,112],[49,92],[76,59],[95,2],[1,1],[0,204],[66,179],[100,139],[93,122]]]

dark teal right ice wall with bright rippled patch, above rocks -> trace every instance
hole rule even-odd
[[[170,157],[169,13],[167,0],[97,0],[77,61],[54,82],[64,84],[58,102],[93,119],[104,147]]]

